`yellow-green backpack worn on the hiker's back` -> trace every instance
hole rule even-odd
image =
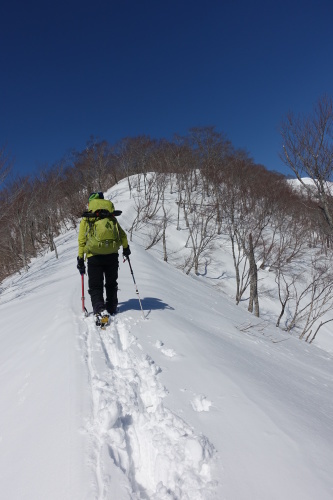
[[[101,201],[104,203],[101,204]],[[109,208],[109,206],[106,205],[105,201],[106,200],[98,200],[99,205]],[[121,238],[119,234],[117,219],[114,217],[114,215],[118,215],[119,212],[113,211],[111,213],[109,210],[107,210],[107,208],[99,208],[92,212],[91,209],[95,207],[91,205],[93,204],[89,203],[90,211],[83,214],[83,216],[86,217],[88,221],[89,228],[86,235],[87,241],[85,246],[85,253],[94,255],[107,255],[111,253],[117,253],[121,246]]]

